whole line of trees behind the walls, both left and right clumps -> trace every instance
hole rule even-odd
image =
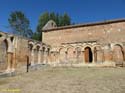
[[[67,13],[58,14],[55,12],[44,12],[38,19],[36,31],[33,31],[30,27],[30,21],[26,15],[21,11],[11,12],[8,18],[9,27],[13,34],[21,35],[23,37],[41,40],[42,28],[49,21],[53,20],[58,27],[71,24],[71,18]]]

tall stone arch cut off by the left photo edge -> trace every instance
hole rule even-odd
[[[3,40],[0,43],[0,70],[6,70],[7,69],[7,49],[8,49],[8,43],[5,40]]]

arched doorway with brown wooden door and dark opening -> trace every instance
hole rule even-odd
[[[92,50],[90,47],[85,48],[85,62],[86,63],[92,63],[93,57],[92,57]]]

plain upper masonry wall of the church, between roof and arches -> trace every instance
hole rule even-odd
[[[99,42],[124,42],[125,22],[83,26],[43,32],[43,42],[52,46],[61,43],[98,40]]]

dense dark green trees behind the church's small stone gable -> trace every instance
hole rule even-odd
[[[45,12],[39,17],[37,31],[34,33],[33,39],[36,39],[36,40],[42,39],[41,30],[49,20],[55,21],[58,27],[71,24],[71,18],[67,13],[64,13],[63,15],[59,15],[58,13],[54,13],[54,12],[51,12],[51,13]]]

